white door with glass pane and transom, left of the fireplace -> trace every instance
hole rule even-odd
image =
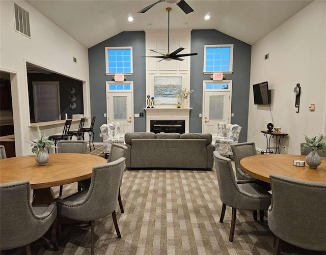
[[[106,82],[107,124],[120,123],[120,133],[133,132],[133,92],[132,83]],[[128,84],[127,89],[124,88]],[[119,85],[122,85],[119,86]],[[130,86],[131,85],[131,86]]]

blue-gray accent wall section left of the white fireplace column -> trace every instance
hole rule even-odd
[[[106,90],[105,82],[111,81],[112,76],[105,75],[105,47],[132,46],[133,75],[125,75],[127,81],[133,81],[133,110],[135,113],[144,112],[146,102],[146,69],[145,69],[145,32],[122,32],[88,49],[90,70],[91,114],[96,116],[94,125],[96,142],[102,124],[106,124]],[[146,113],[145,113],[146,114]],[[144,116],[145,116],[144,114]],[[110,121],[109,121],[110,123]],[[146,118],[134,118],[134,131],[146,131]]]

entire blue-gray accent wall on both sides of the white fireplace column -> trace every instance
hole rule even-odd
[[[191,56],[191,83],[190,88],[195,92],[190,97],[191,110],[190,132],[202,132],[203,80],[209,80],[211,74],[203,74],[204,45],[233,44],[233,73],[225,74],[226,79],[232,80],[232,108],[234,117],[232,124],[242,127],[239,141],[247,141],[248,102],[250,86],[251,45],[216,30],[193,30],[191,34],[191,51],[197,56]],[[134,118],[134,131],[146,131],[146,67],[145,67],[145,32],[122,32],[89,48],[91,113],[96,116],[94,126],[95,141],[101,142],[99,127],[106,123],[103,114],[106,112],[105,81],[112,76],[105,75],[105,47],[132,46],[133,75],[126,76],[133,81],[133,108],[134,113],[144,112],[144,118]],[[181,45],[182,46],[182,45]]]

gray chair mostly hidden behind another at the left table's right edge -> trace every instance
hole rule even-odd
[[[111,151],[108,155],[107,162],[115,161],[119,158],[125,158],[127,155],[128,148],[121,144],[112,144],[111,145]],[[90,187],[91,179],[83,180],[78,182],[78,186],[82,187],[83,190],[87,190]],[[120,187],[122,185],[122,176],[120,179],[120,186],[119,186],[119,195],[118,195],[118,202],[119,207],[122,213],[124,213],[122,199],[121,199],[121,193],[120,193]]]

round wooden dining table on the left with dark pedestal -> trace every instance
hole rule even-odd
[[[93,166],[106,163],[103,157],[81,153],[50,153],[46,165],[38,165],[35,155],[0,160],[0,183],[29,180],[35,190],[32,204],[50,204],[51,187],[82,181],[92,176]]]

